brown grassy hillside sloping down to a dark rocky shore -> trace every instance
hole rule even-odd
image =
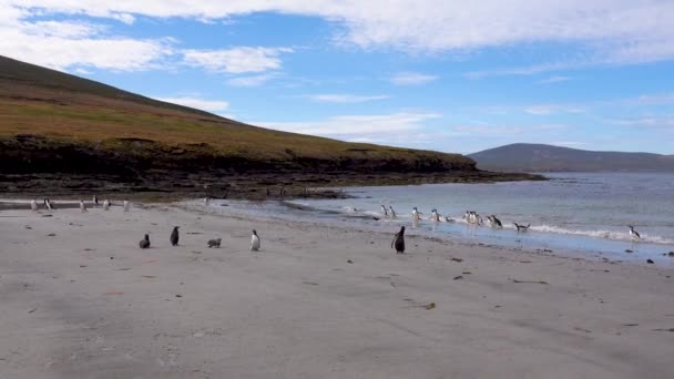
[[[196,180],[185,183],[185,177],[215,183],[219,177],[252,174],[286,184],[333,183],[335,177],[346,182],[344,177],[357,175],[372,180],[391,173],[433,173],[457,181],[461,175],[499,178],[478,171],[472,160],[459,154],[256,127],[4,57],[0,57],[0,190],[2,182],[24,178],[16,175],[34,174],[58,175],[59,181],[62,174],[114,176],[111,181],[142,182],[154,188],[197,185]]]

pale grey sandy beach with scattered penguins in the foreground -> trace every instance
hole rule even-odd
[[[2,211],[0,378],[674,377],[671,268],[392,232]]]

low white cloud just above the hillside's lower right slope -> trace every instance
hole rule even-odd
[[[313,122],[256,122],[254,124],[293,133],[345,140],[376,137],[380,141],[382,133],[418,131],[426,122],[441,116],[427,112],[398,112],[379,115],[340,115]],[[411,139],[413,140],[413,134]]]

